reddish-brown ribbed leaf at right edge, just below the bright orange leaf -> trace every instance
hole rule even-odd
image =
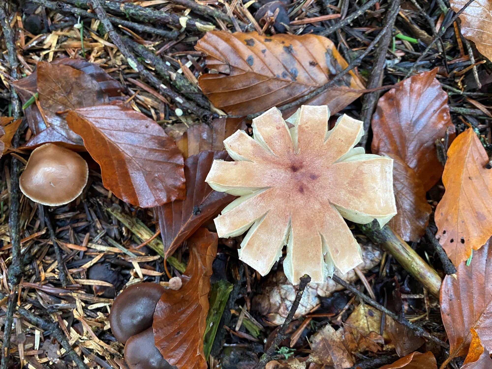
[[[458,136],[459,138],[460,136]],[[450,357],[466,355],[473,328],[487,351],[492,350],[492,247],[490,241],[473,252],[469,266],[456,267],[456,279],[441,285],[441,317],[448,334]]]

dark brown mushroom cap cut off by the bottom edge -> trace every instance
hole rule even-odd
[[[171,369],[154,344],[154,329],[131,336],[124,345],[124,360],[130,369]]]

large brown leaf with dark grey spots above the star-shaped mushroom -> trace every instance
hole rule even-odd
[[[212,31],[198,40],[195,49],[207,55],[209,69],[219,72],[203,74],[198,80],[200,88],[217,108],[235,115],[294,101],[323,86],[348,65],[332,41],[313,34]],[[361,95],[341,87],[364,89],[353,72],[337,86],[305,104],[328,105],[332,114],[337,113]]]

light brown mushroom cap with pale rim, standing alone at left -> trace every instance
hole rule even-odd
[[[22,193],[48,206],[68,204],[82,193],[89,178],[87,162],[55,144],[36,148],[19,179]]]

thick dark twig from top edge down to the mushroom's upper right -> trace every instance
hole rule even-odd
[[[369,77],[369,82],[367,85],[368,89],[373,89],[379,87],[383,84],[383,69],[386,64],[386,53],[388,51],[388,46],[393,38],[393,26],[395,24],[396,16],[395,13],[398,14],[400,11],[400,0],[393,0],[391,2],[391,8],[384,19],[385,27],[389,25],[387,28],[381,42],[377,46],[374,63],[372,64],[372,72]],[[390,24],[390,22],[392,23]],[[380,96],[379,91],[369,92],[364,95],[364,99],[362,101],[362,110],[361,110],[361,120],[364,122],[364,136],[362,136],[360,141],[360,146],[366,148],[366,143],[369,136],[369,126],[370,120],[372,117],[372,113],[376,107],[377,100]]]

